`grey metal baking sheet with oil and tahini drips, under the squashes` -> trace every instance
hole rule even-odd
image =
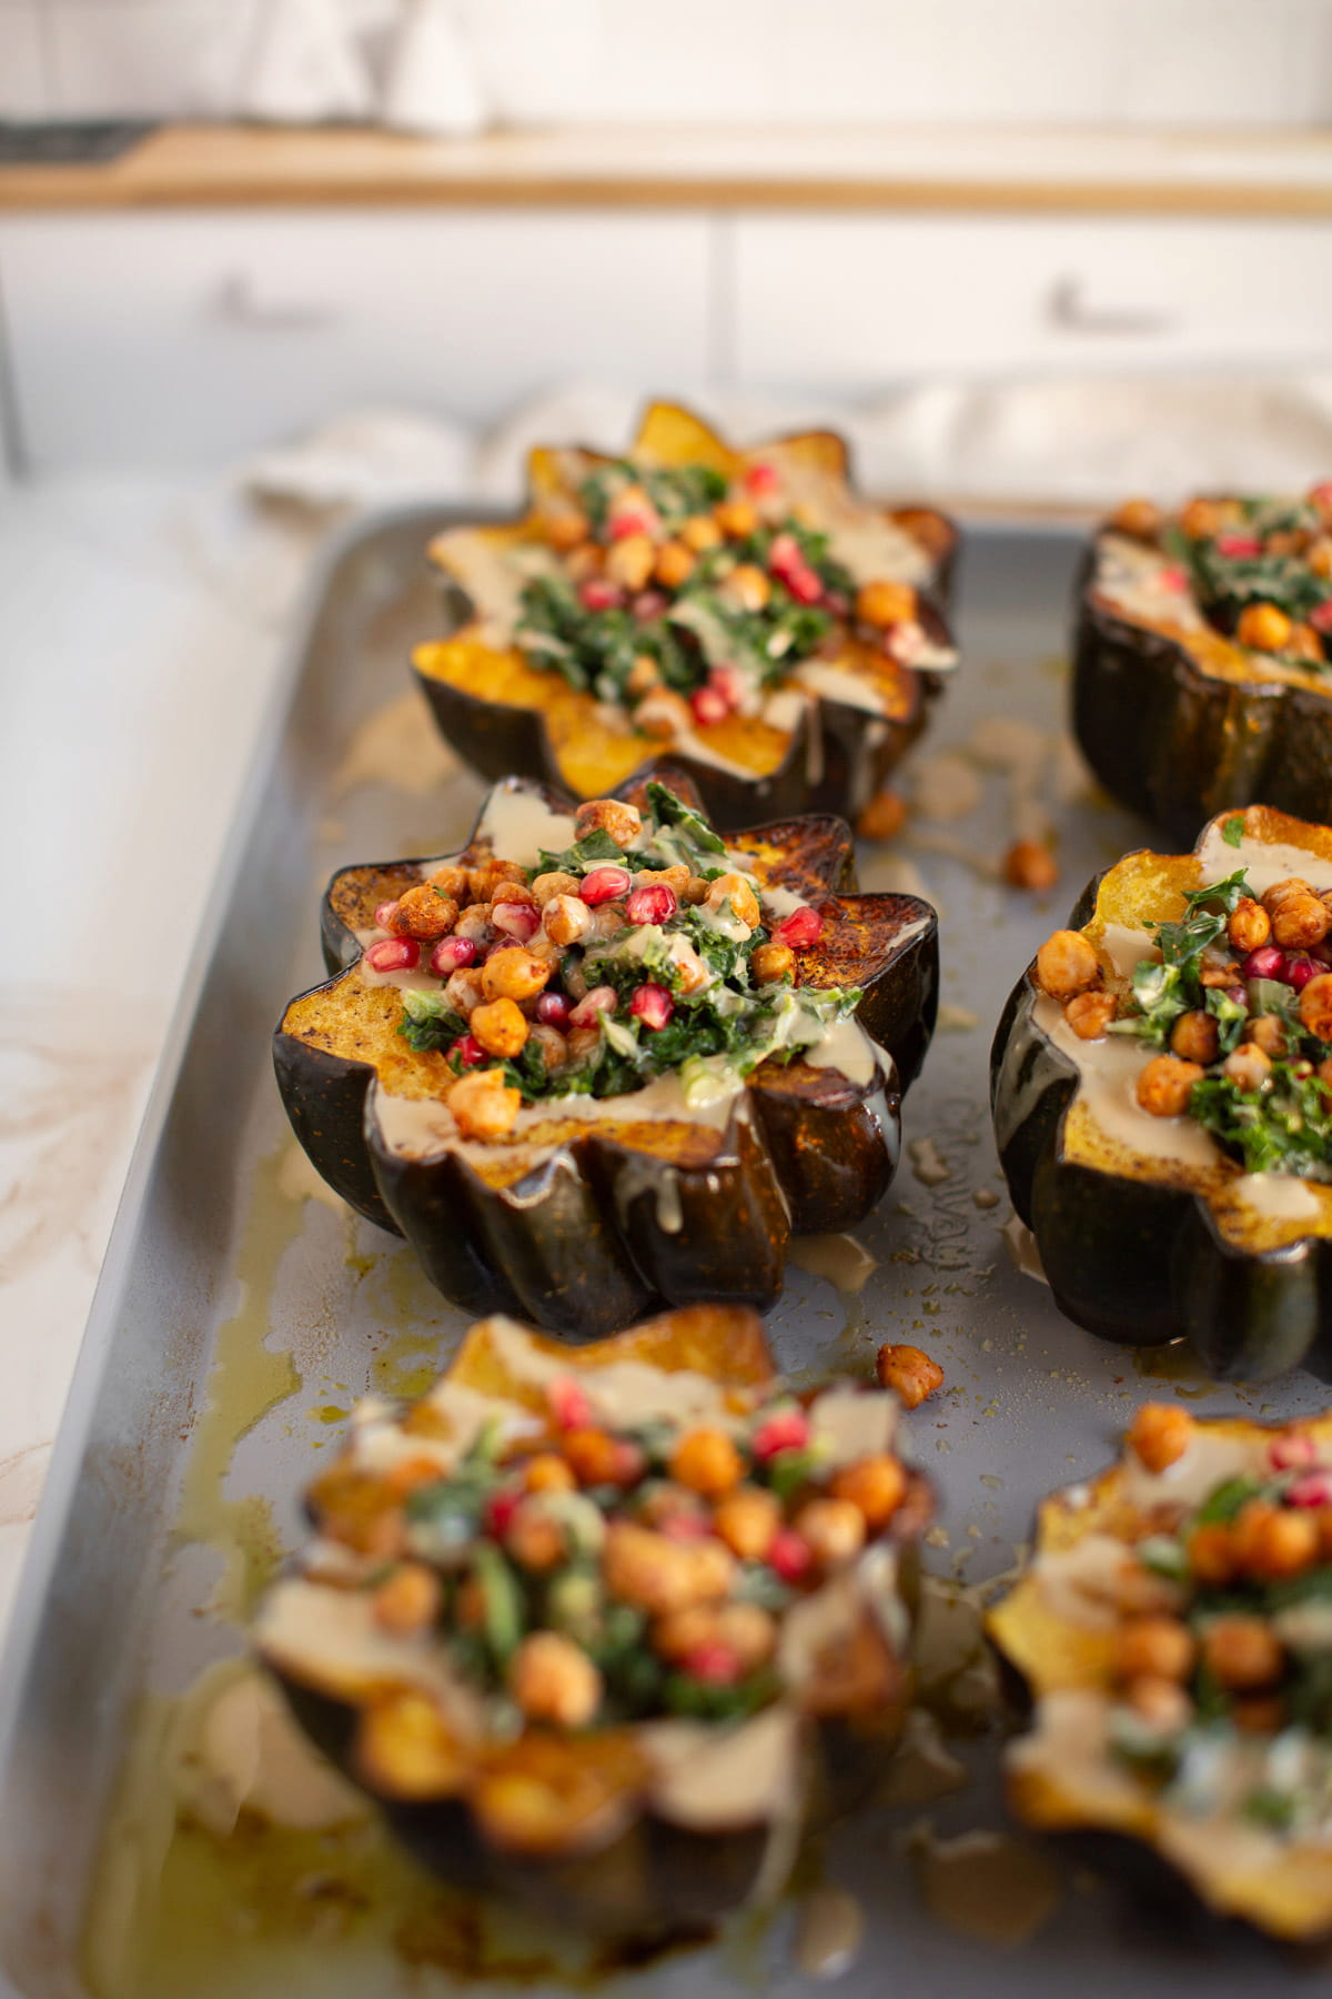
[[[407,646],[439,618],[419,558],[441,524],[427,510],[371,520],[322,568],[130,1173],[0,1675],[0,1965],[6,1991],[26,1999],[431,1999],[477,1975],[529,1987],[547,1963],[549,1939],[509,1913],[459,1907],[373,1829],[314,1845],[244,1823],[222,1845],[174,1831],[164,1775],[180,1697],[242,1649],[256,1591],[300,1537],[298,1493],[351,1401],[423,1387],[463,1325],[401,1243],[312,1197],[270,1071],[282,1003],[322,972],[316,898],[328,872],[443,852],[481,796],[447,768],[407,686]],[[1132,1353],[1068,1325],[1002,1235],[993,1021],[1084,880],[1144,838],[1076,796],[1054,758],[1074,562],[1072,536],[985,528],[969,540],[965,670],[917,758],[963,752],[943,774],[929,766],[937,812],[959,812],[969,788],[979,798],[955,820],[917,818],[865,870],[869,886],[889,886],[907,864],[939,904],[945,1031],[907,1101],[899,1181],[859,1229],[869,1281],[839,1291],[793,1267],[771,1315],[795,1375],[869,1369],[883,1339],[943,1361],[947,1389],[909,1427],[943,1499],[929,1563],[965,1583],[1012,1565],[1038,1495],[1106,1461],[1136,1401],[1182,1395],[1206,1413],[1288,1417],[1324,1399],[1308,1377],[1216,1389],[1174,1349],[1144,1373]],[[1050,760],[1018,786],[1022,814],[1044,808],[1056,828],[1062,880],[1044,898],[975,866],[1012,838],[1012,774],[985,764],[1002,748],[995,718],[1010,752],[1022,740],[1012,724],[1048,736]],[[839,1259],[835,1273],[849,1267]],[[1020,1879],[1002,1875],[1004,1849],[995,1861],[931,1847],[1004,1825],[999,1731],[955,1749],[965,1789],[873,1809],[803,1865],[805,1887],[835,1883],[865,1911],[863,1949],[843,1975],[855,1999],[905,1979],[919,1999],[1072,1985],[1112,1999],[1130,1985],[1164,1995],[1180,1977],[1248,1999],[1254,1975],[1298,1975],[1248,1935],[1154,1923],[1062,1859],[1036,1933],[1002,1947],[995,1899],[1034,1917],[1042,1897],[1028,1861]],[[991,1867],[999,1887],[985,1917],[973,1891]],[[795,1921],[789,1899],[717,1945],[637,1971],[601,1965],[599,1977],[653,1999],[795,1993],[807,1983]]]

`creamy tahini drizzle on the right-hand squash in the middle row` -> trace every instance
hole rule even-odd
[[[1332,860],[1322,860],[1304,848],[1254,840],[1248,834],[1236,848],[1222,838],[1220,824],[1208,830],[1198,850],[1198,864],[1200,882],[1222,882],[1246,868],[1256,896],[1288,876],[1302,876],[1316,890],[1332,888]],[[1122,978],[1132,974],[1138,960],[1154,954],[1148,930],[1130,930],[1122,924],[1104,926],[1100,948]],[[1064,1019],[1060,1001],[1046,994],[1036,996],[1032,1017],[1076,1067],[1076,1099],[1112,1145],[1144,1159],[1170,1159],[1202,1171],[1216,1171],[1218,1165],[1228,1163],[1210,1133],[1192,1117],[1154,1117],[1138,1103],[1138,1073],[1158,1049],[1126,1033],[1082,1041]],[[1274,1221],[1312,1221],[1322,1213],[1308,1183],[1288,1173],[1240,1173],[1226,1191],[1252,1213]]]

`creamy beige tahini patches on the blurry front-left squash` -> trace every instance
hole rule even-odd
[[[545,1387],[569,1373],[563,1355],[545,1353],[513,1319],[485,1319],[473,1333],[489,1339],[503,1373],[517,1383]],[[687,1367],[663,1369],[623,1359],[581,1367],[577,1379],[595,1419],[611,1429],[649,1421],[677,1429],[743,1425],[735,1385]],[[757,1399],[757,1391],[751,1393]],[[403,1457],[427,1455],[445,1475],[485,1421],[497,1421],[503,1437],[537,1427],[521,1403],[477,1395],[447,1375],[425,1401],[447,1421],[449,1437],[403,1431],[395,1407],[369,1397],[353,1411],[351,1461],[363,1471],[387,1471]],[[867,1451],[895,1449],[899,1403],[893,1395],[831,1385],[815,1397],[809,1417],[829,1471]],[[308,1573],[288,1577],[268,1593],[254,1627],[260,1653],[294,1677],[345,1699],[371,1685],[419,1687],[441,1703],[463,1743],[481,1743],[483,1699],[453,1671],[437,1635],[383,1631],[373,1619],[369,1595],[347,1587],[357,1579],[361,1557],[339,1551],[339,1561],[330,1565],[330,1549],[328,1541],[312,1541],[302,1557]],[[322,1581],[324,1575],[330,1581]],[[889,1547],[871,1547],[857,1565],[783,1617],[777,1655],[783,1683],[789,1689],[805,1685],[817,1671],[817,1655],[851,1637],[865,1609],[893,1645],[905,1643],[907,1613],[897,1593],[897,1555]],[[801,1733],[795,1709],[781,1697],[737,1727],[663,1717],[639,1723],[633,1733],[653,1767],[653,1809],[673,1823],[699,1829],[777,1823],[795,1809]]]

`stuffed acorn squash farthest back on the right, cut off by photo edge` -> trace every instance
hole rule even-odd
[[[1332,484],[1132,500],[1078,592],[1072,720],[1106,792],[1188,842],[1224,806],[1332,802]]]

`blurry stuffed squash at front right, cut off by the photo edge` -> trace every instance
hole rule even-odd
[[[1034,1701],[1020,1819],[1144,1841],[1276,1937],[1332,1931],[1330,1415],[1148,1403],[1118,1463],[1044,1501],[989,1629]]]

